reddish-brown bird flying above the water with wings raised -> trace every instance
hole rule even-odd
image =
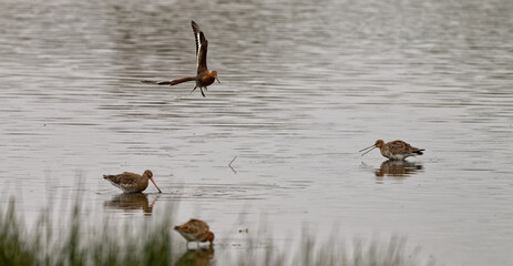
[[[205,34],[199,29],[199,25],[196,24],[196,22],[191,21],[191,25],[193,27],[194,39],[196,40],[196,59],[197,59],[196,75],[176,79],[172,81],[143,80],[141,82],[150,83],[150,84],[158,84],[158,85],[176,85],[176,84],[187,82],[187,81],[195,81],[196,85],[194,86],[191,93],[193,93],[194,90],[196,90],[196,88],[199,88],[203,96],[205,96],[205,92],[203,91],[204,88],[206,91],[207,86],[212,85],[212,83],[214,83],[214,81],[216,80],[217,82],[220,83],[219,79],[217,79],[217,71],[209,71],[208,68],[206,66],[206,53],[208,49],[208,41],[206,40]]]

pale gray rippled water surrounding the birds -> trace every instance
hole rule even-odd
[[[140,83],[195,72],[191,19],[222,83]],[[101,178],[150,168],[152,213],[208,221],[216,256],[264,215],[278,242],[337,224],[513,264],[510,0],[3,0],[0,24],[2,207],[69,213],[80,176],[92,217],[152,217]],[[377,139],[425,155],[380,168]]]

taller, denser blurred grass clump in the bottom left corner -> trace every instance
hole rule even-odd
[[[134,231],[126,224],[103,225],[83,232],[83,214],[78,205],[71,223],[55,234],[47,214],[29,232],[17,216],[14,201],[0,209],[0,265],[171,265],[171,221],[163,219],[152,229]],[[117,228],[116,228],[117,227]],[[89,228],[88,228],[89,229]],[[88,235],[90,237],[88,237]]]

